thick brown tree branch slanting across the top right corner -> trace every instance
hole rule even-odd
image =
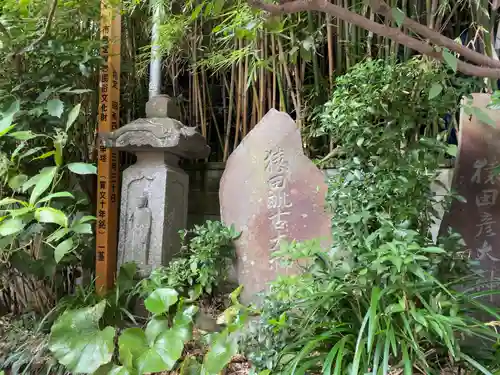
[[[375,0],[377,1],[377,0]],[[327,0],[294,0],[292,2],[284,3],[284,4],[267,4],[264,3],[262,0],[249,0],[250,5],[257,7],[259,9],[262,9],[266,12],[269,12],[271,14],[292,14],[292,13],[298,13],[298,12],[303,12],[303,11],[311,11],[311,10],[316,10],[324,13],[328,13],[333,17],[337,17],[338,19],[341,19],[343,21],[349,22],[353,25],[359,26],[365,30],[371,31],[375,34],[387,37],[391,40],[394,40],[397,43],[403,44],[407,46],[408,48],[411,48],[417,52],[420,52],[421,54],[432,56],[437,60],[443,61],[443,55],[441,52],[437,52],[431,45],[424,43],[418,39],[415,39],[413,37],[410,37],[403,33],[399,28],[393,28],[389,27],[387,25],[382,25],[380,23],[377,23],[375,21],[372,21],[366,17],[363,17],[357,13],[351,12],[350,10],[347,10],[343,7],[340,7],[338,5],[332,4]],[[379,7],[380,10],[380,7]],[[383,9],[381,10],[383,11]],[[391,16],[392,17],[392,16]],[[463,56],[468,56],[468,58],[471,61],[477,62],[478,64],[482,65],[487,65],[487,67],[481,67],[481,66],[476,66],[472,65],[469,63],[465,63],[462,61],[458,61],[457,64],[457,69],[469,76],[476,76],[476,77],[487,77],[487,78],[500,78],[500,69],[495,69],[493,67],[500,67],[500,64],[498,64],[498,61],[495,61],[487,56],[483,56],[479,53],[476,53],[474,51],[469,50],[468,48],[465,48],[463,46],[460,46],[459,44],[455,43],[453,40],[445,37],[444,35],[441,35],[426,26],[423,26],[421,24],[418,24],[417,22],[411,20],[412,22],[415,22],[415,24],[419,25],[416,26],[412,22],[409,22],[409,18],[405,18],[405,25],[410,28],[411,27],[415,28],[415,31],[417,29],[420,30],[420,33],[422,30],[424,30],[424,33],[426,33],[429,36],[429,40],[435,41],[434,43],[439,45],[439,46],[444,46],[449,48],[450,50],[453,50],[455,52],[457,51],[457,46],[462,47],[462,49],[459,48],[459,50]],[[423,34],[423,33],[422,33]],[[435,34],[439,35],[439,38],[436,37]],[[423,35],[424,36],[424,35]],[[432,39],[431,39],[432,37]],[[443,43],[445,42],[445,43]],[[450,48],[449,46],[453,47]],[[465,50],[469,50],[474,53],[468,53]],[[463,53],[465,52],[465,54]],[[478,58],[477,55],[480,56]]]

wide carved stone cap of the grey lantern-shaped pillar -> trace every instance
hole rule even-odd
[[[106,147],[125,151],[169,152],[186,159],[203,159],[210,154],[205,138],[195,128],[184,126],[171,118],[147,118],[110,132],[101,133],[101,142]]]

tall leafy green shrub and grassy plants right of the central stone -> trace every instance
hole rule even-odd
[[[276,254],[310,261],[303,274],[272,284],[242,340],[257,370],[490,374],[498,367],[499,337],[474,312],[498,316],[481,293],[459,291],[478,282],[460,236],[435,244],[429,233],[430,186],[447,146],[420,126],[439,125],[458,98],[423,90],[428,69],[369,61],[338,80],[319,129],[345,153],[328,181],[334,247],[292,243]],[[483,346],[466,345],[475,340]]]

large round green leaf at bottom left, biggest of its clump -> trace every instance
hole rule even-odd
[[[99,329],[106,300],[92,307],[66,311],[52,325],[49,350],[74,373],[92,374],[111,361],[115,329]]]

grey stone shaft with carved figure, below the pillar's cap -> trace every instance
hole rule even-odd
[[[133,261],[147,276],[180,250],[178,232],[186,228],[189,178],[175,155],[136,155],[137,162],[122,176],[118,267]]]

